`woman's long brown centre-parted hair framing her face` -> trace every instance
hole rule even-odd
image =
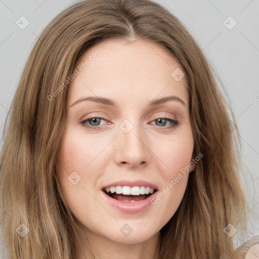
[[[236,258],[233,236],[224,232],[232,224],[244,233],[246,222],[234,119],[193,37],[174,15],[148,0],[78,2],[36,41],[10,108],[0,161],[7,258],[77,258],[75,219],[56,175],[68,77],[85,50],[112,38],[155,42],[179,62],[188,82],[194,155],[203,157],[178,210],[160,231],[159,259]],[[22,237],[19,230],[29,233]]]

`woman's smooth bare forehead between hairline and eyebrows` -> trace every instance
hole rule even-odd
[[[185,77],[180,81],[174,77],[174,71],[181,71],[179,63],[153,42],[102,41],[80,56],[75,69],[78,74],[69,85],[69,103],[81,96],[129,102],[166,95],[181,96],[188,103]]]

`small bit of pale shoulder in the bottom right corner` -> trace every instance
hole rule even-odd
[[[240,259],[259,259],[259,236],[254,236],[236,249]]]

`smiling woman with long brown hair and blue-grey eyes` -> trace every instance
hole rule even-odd
[[[247,207],[224,98],[158,4],[64,10],[37,40],[10,114],[7,258],[244,258],[258,243],[234,247]]]

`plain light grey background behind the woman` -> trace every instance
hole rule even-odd
[[[244,166],[241,183],[250,203],[251,211],[248,215],[258,214],[259,1],[155,2],[162,4],[182,21],[225,85],[241,135]],[[20,74],[34,42],[42,29],[72,3],[76,1],[0,0],[1,136]],[[29,21],[29,25],[23,30],[16,24],[21,16]],[[25,20],[23,21],[25,24]],[[235,21],[237,24],[233,27]],[[0,149],[2,145],[1,140]],[[251,218],[247,238],[254,235],[259,235],[259,220],[255,217]],[[237,240],[237,243],[240,242],[241,240]]]

